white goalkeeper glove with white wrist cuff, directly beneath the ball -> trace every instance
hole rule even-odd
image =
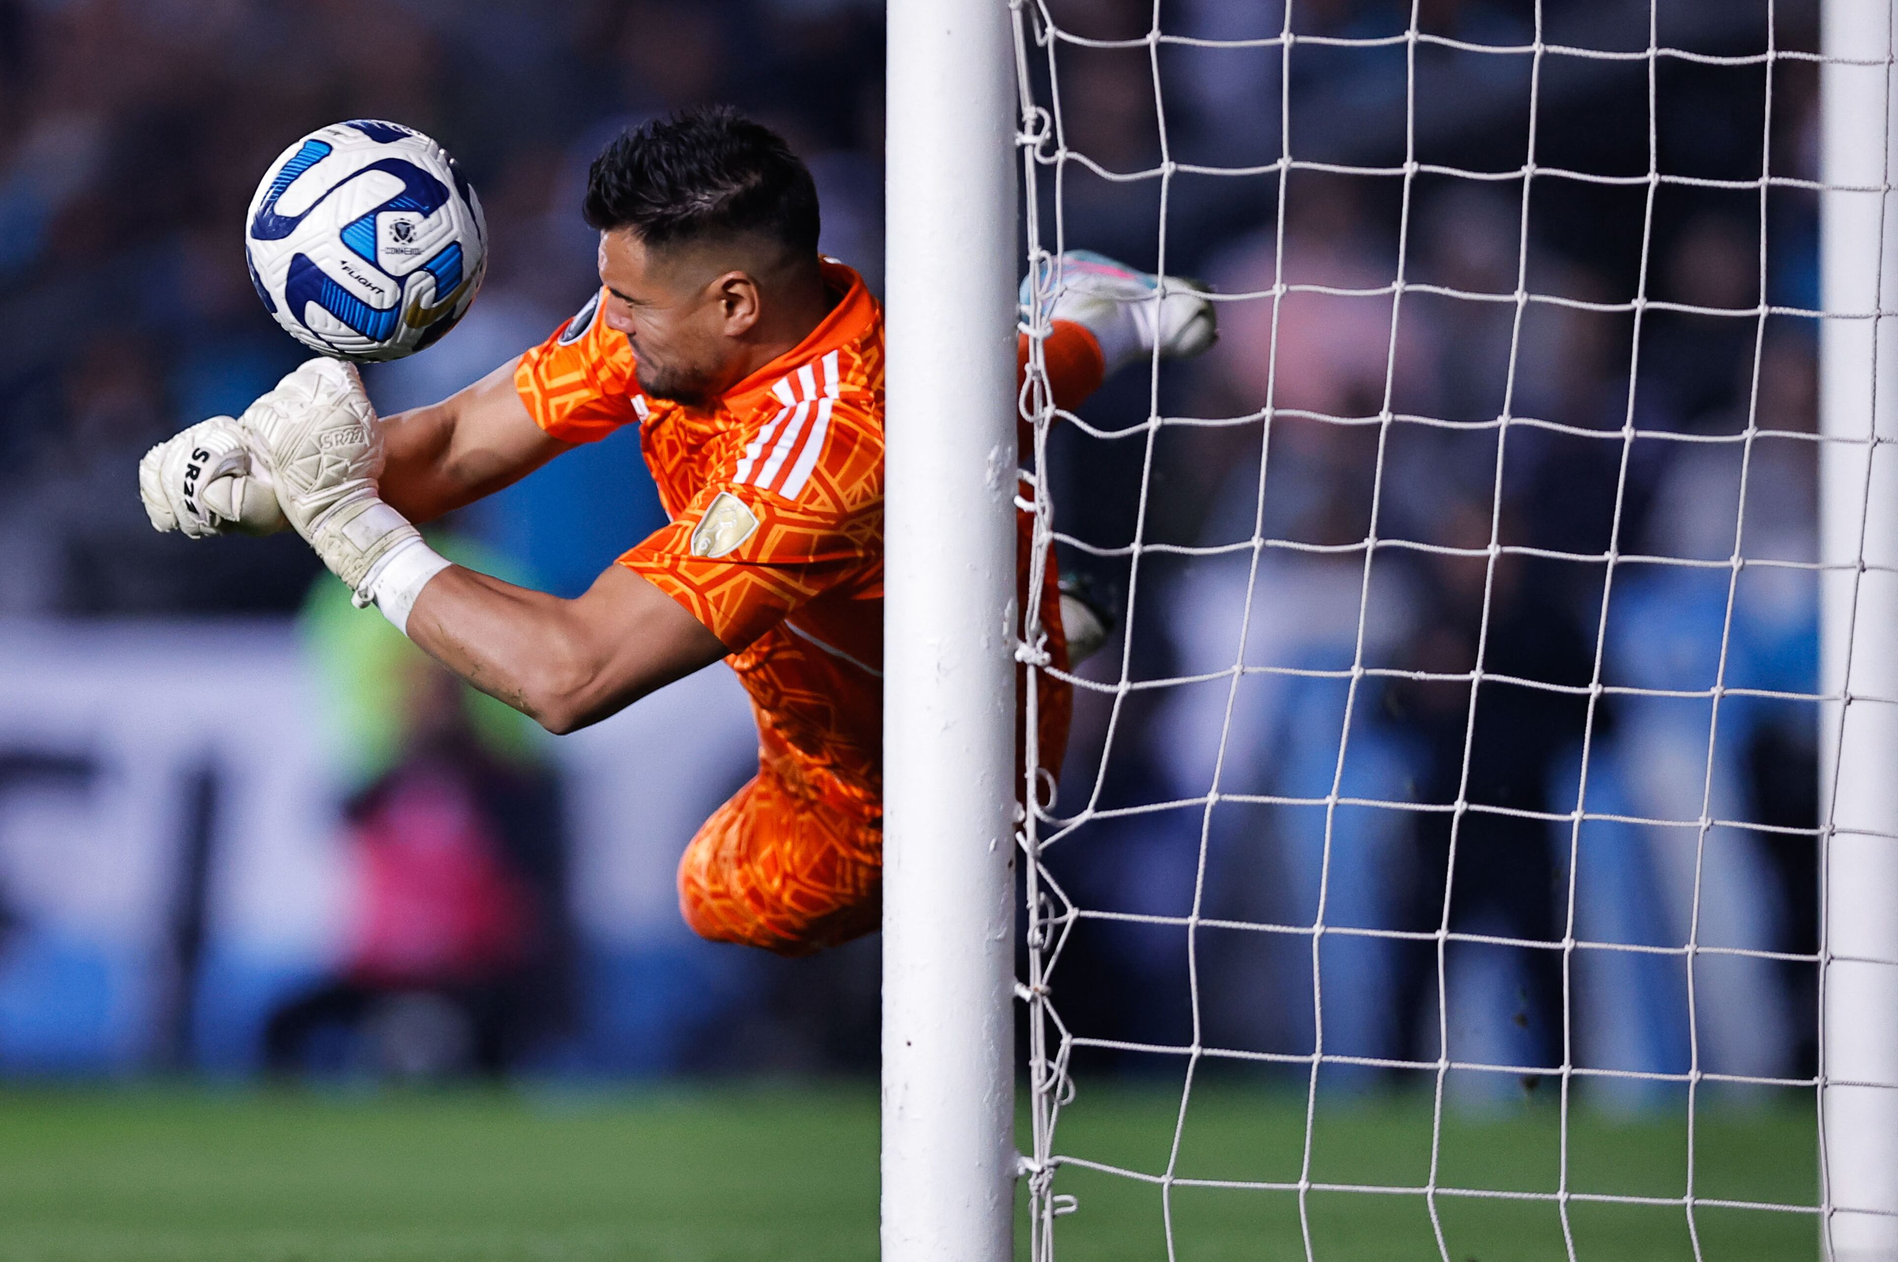
[[[357,370],[311,359],[252,402],[239,423],[275,478],[277,503],[323,564],[402,632],[421,586],[448,562],[376,493],[381,421]]]

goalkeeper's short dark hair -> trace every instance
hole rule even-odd
[[[586,222],[630,228],[649,249],[761,235],[788,256],[818,251],[818,190],[784,139],[731,106],[630,127],[586,171]]]

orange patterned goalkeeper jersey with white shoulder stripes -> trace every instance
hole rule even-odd
[[[761,759],[860,812],[883,799],[883,313],[826,260],[837,306],[716,406],[649,399],[605,296],[528,351],[514,385],[566,442],[640,427],[672,524],[619,558],[725,645]]]

